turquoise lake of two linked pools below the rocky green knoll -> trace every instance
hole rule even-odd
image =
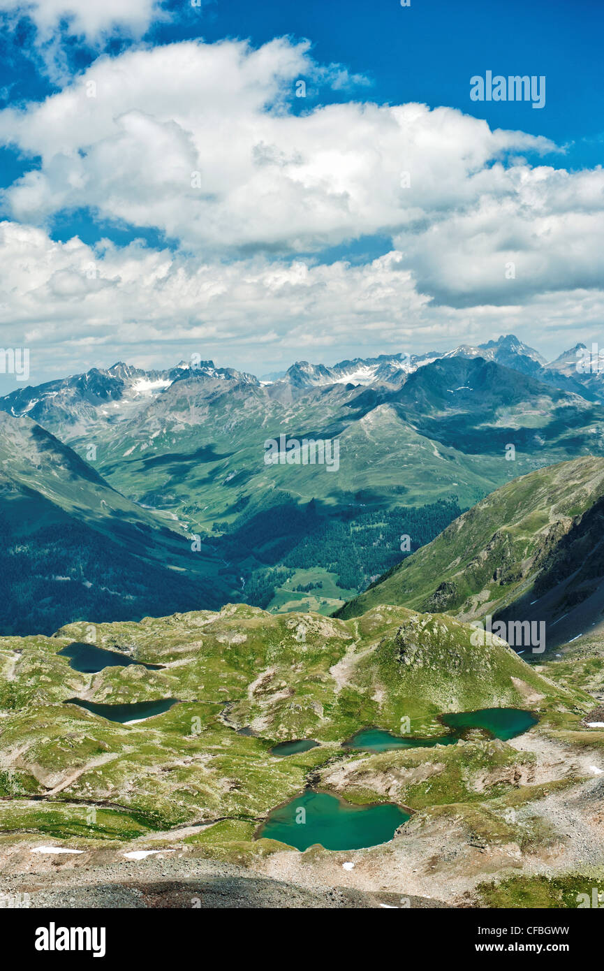
[[[391,749],[430,749],[435,745],[455,745],[469,728],[483,728],[494,738],[507,741],[537,724],[532,712],[521,708],[482,708],[476,712],[453,712],[442,715],[441,721],[453,730],[433,738],[414,738],[411,735],[393,735],[385,728],[363,728],[357,731],[345,749],[363,749],[367,752],[388,752]]]

